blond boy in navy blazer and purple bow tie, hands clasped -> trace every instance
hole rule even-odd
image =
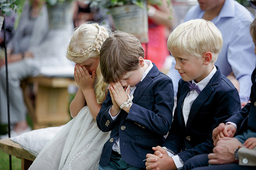
[[[192,156],[213,149],[213,128],[241,109],[238,91],[214,65],[222,47],[221,33],[211,21],[180,24],[168,38],[179,81],[177,107],[168,137],[147,154],[147,170],[180,169]]]

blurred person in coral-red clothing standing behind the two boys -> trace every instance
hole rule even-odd
[[[170,55],[167,49],[167,36],[171,33],[175,19],[173,18],[172,4],[162,0],[161,5],[148,4],[149,42],[142,44],[145,58],[155,63],[160,70],[166,56]]]

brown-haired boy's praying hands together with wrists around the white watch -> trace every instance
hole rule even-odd
[[[109,93],[113,103],[113,106],[110,109],[110,113],[112,116],[116,116],[119,113],[120,106],[128,99],[128,95],[126,94],[127,88],[128,87],[123,88],[119,81],[111,82],[109,84]],[[130,94],[130,87],[128,88],[127,93]],[[129,113],[130,111],[130,107],[123,107],[122,109],[125,110],[127,113]]]

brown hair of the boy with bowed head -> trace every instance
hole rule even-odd
[[[116,82],[127,72],[137,70],[140,57],[144,58],[144,50],[134,35],[122,31],[110,33],[100,49],[104,82]]]

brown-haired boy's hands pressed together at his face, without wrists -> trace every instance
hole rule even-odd
[[[116,102],[118,107],[120,107],[128,99],[128,95],[126,94],[126,91],[125,91],[126,88],[123,89],[123,86],[119,81],[116,83],[113,83],[113,82],[110,83],[109,90],[112,93],[112,95],[110,94],[111,99],[112,99],[112,102],[114,99],[114,102]],[[128,89],[127,93],[130,94],[130,89]],[[113,102],[113,105],[114,105],[114,102]]]

